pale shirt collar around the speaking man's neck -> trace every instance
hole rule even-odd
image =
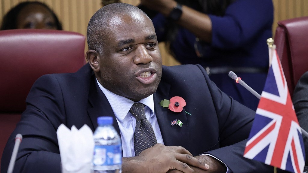
[[[106,88],[104,88],[96,79],[96,82],[99,86],[99,88],[103,91],[103,93],[105,94],[108,102],[111,105],[111,108],[115,114],[115,117],[119,120],[119,121],[123,121],[125,116],[128,114],[128,111],[130,110],[130,108],[132,107],[132,105],[135,103],[134,101],[125,98],[123,96],[120,95],[116,95],[115,93],[107,90]],[[151,109],[151,111],[154,113],[154,99],[153,99],[153,95],[148,96],[147,98],[141,99],[140,101],[138,101],[138,103],[143,103],[144,105],[146,105],[147,107],[149,107]],[[153,116],[154,114],[151,114],[151,116]]]

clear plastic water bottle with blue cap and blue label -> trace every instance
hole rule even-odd
[[[95,142],[92,159],[93,173],[119,173],[122,165],[122,145],[119,134],[112,126],[112,117],[98,117],[94,131]]]

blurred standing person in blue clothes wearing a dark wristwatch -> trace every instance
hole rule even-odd
[[[256,110],[253,94],[229,78],[232,70],[261,94],[269,68],[272,0],[141,0],[159,42],[181,64],[201,64],[233,99]]]

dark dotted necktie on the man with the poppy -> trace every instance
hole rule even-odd
[[[152,125],[145,117],[144,105],[134,103],[129,112],[136,118],[134,149],[137,156],[145,149],[153,147],[157,141]]]

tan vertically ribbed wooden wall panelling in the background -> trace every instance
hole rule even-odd
[[[19,2],[28,0],[0,0],[0,22],[2,16]],[[91,16],[101,7],[100,0],[39,0],[51,7],[59,17],[63,30],[79,32],[86,35],[87,23]],[[138,5],[139,0],[122,0],[122,2]],[[273,0],[274,23],[273,34],[280,20],[308,16],[308,0]],[[164,43],[159,44],[164,65],[178,65],[179,62],[168,54]],[[87,50],[87,44],[86,44]]]

